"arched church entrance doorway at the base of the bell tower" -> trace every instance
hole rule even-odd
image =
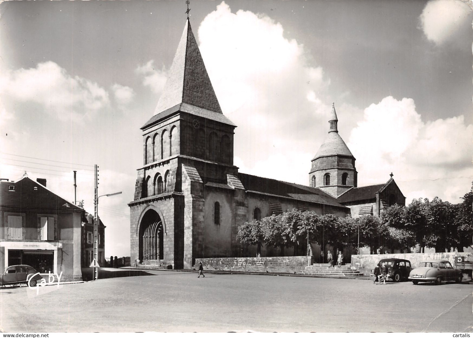
[[[140,261],[163,259],[163,223],[154,210],[146,211],[140,223]]]

